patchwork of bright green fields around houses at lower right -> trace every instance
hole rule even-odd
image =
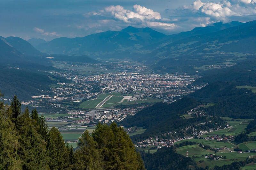
[[[223,117],[222,119],[228,121],[228,123],[232,126],[227,129],[222,129],[214,132],[209,132],[201,137],[207,137],[212,135],[238,135],[242,131],[245,130],[246,126],[249,124],[251,120],[249,119],[237,119],[233,120],[228,117]],[[252,132],[251,135],[256,135],[256,132]],[[223,148],[226,147],[226,150],[220,150],[219,152],[214,152],[212,150],[205,150],[199,146],[199,144],[193,144],[188,146],[183,146],[176,149],[176,152],[186,156],[188,151],[188,156],[194,159],[198,166],[212,168],[214,166],[222,166],[225,164],[231,164],[234,161],[242,161],[251,156],[256,156],[256,153],[244,152],[246,150],[256,149],[256,141],[248,141],[241,144],[236,145],[234,141],[217,141],[217,140],[205,140],[205,139],[186,139],[176,142],[175,144],[180,144],[185,141],[201,143],[204,145],[210,145],[212,148]],[[235,148],[239,148],[243,151],[243,153],[234,152]],[[232,151],[232,152],[231,152]],[[219,160],[211,160],[205,158],[205,155],[213,154],[219,156]],[[254,167],[254,168],[253,168]],[[242,169],[255,169],[255,165],[247,165],[242,167]]]

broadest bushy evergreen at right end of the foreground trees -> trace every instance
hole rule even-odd
[[[116,123],[110,126],[98,124],[92,137],[103,155],[104,169],[144,169],[140,155],[132,140]]]

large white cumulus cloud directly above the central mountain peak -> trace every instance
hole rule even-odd
[[[121,5],[111,5],[104,8],[99,12],[90,12],[87,15],[100,15],[109,17],[102,21],[109,21],[115,19],[116,21],[123,22],[127,25],[135,26],[150,26],[153,28],[172,30],[176,28],[174,23],[171,23],[171,19],[163,18],[159,12],[153,11],[152,9],[146,8],[140,5],[133,5],[132,10],[127,10]]]

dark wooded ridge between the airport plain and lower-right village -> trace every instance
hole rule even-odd
[[[193,129],[208,130],[218,126],[225,126],[225,121],[219,117],[202,116],[189,119],[183,119],[180,115],[184,115],[188,110],[200,105],[194,99],[183,98],[171,104],[156,103],[151,107],[146,107],[138,112],[133,117],[128,117],[122,124],[126,127],[143,127],[147,130],[139,135],[132,136],[132,140],[141,141],[148,137],[168,133],[170,131],[176,132],[175,136],[184,137],[191,135]],[[200,124],[205,122],[204,124]],[[191,126],[190,129],[184,131],[183,129]],[[163,138],[174,138],[173,134],[163,135]]]

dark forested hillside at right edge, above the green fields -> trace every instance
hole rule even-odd
[[[255,60],[209,72],[192,84],[208,83],[209,85],[189,94],[189,97],[204,103],[215,103],[214,106],[205,108],[209,115],[244,119],[256,118],[256,94],[245,88],[236,88],[236,86],[243,85],[256,86]]]

